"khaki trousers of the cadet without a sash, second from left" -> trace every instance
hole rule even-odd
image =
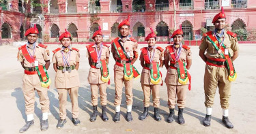
[[[59,118],[61,120],[66,119],[67,112],[66,112],[66,103],[68,94],[70,95],[70,100],[72,103],[72,117],[78,118],[79,117],[79,102],[78,102],[78,95],[79,95],[79,86],[74,88],[58,88],[59,93]]]

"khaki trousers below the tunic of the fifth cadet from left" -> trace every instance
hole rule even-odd
[[[143,93],[144,93],[144,107],[150,106],[150,95],[152,91],[152,97],[153,97],[153,106],[159,107],[160,105],[160,97],[159,97],[159,88],[160,84],[157,85],[147,85],[147,84],[141,84]]]

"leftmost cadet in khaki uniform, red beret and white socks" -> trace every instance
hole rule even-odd
[[[50,54],[47,46],[36,43],[38,39],[38,29],[36,25],[28,29],[25,33],[27,36],[27,44],[18,48],[18,61],[25,69],[23,75],[23,95],[25,99],[25,108],[27,114],[27,122],[20,129],[23,133],[34,124],[33,112],[35,107],[35,90],[37,91],[40,99],[42,110],[41,130],[48,129],[48,111],[50,101],[48,99],[48,86],[51,84],[48,78],[47,71],[50,66]]]

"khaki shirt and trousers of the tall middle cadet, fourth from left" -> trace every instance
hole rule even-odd
[[[126,39],[125,42],[122,39],[119,39],[124,50],[126,52],[130,52],[130,58],[133,58],[133,51],[139,52],[137,42],[131,41],[129,38]],[[128,48],[128,50],[126,49]],[[115,52],[115,47],[111,46],[111,52],[115,54],[115,58],[118,58],[117,52]],[[114,82],[115,82],[115,106],[121,105],[122,101],[122,90],[123,90],[123,82],[125,85],[125,93],[126,93],[126,104],[132,105],[132,82],[131,80],[124,80],[124,67],[120,67],[118,65],[114,65]]]

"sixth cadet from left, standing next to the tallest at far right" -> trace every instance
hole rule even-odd
[[[167,84],[168,105],[170,110],[167,122],[171,123],[174,121],[174,108],[177,97],[177,107],[179,108],[177,114],[178,123],[184,124],[183,110],[186,101],[186,91],[188,88],[190,89],[190,85],[188,84],[190,84],[191,77],[188,69],[190,69],[192,64],[192,57],[190,48],[182,44],[184,37],[181,27],[173,32],[171,38],[173,38],[174,44],[167,46],[165,50],[165,67],[167,68],[165,83]]]

